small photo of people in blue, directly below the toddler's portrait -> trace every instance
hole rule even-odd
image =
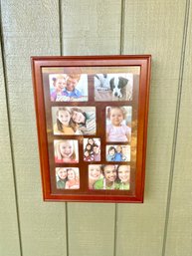
[[[130,161],[130,145],[106,145],[106,161]]]

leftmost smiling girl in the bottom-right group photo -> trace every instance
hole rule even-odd
[[[96,180],[103,177],[101,174],[100,164],[90,164],[89,165],[89,189],[94,189],[94,184]]]

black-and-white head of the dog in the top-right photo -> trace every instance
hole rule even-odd
[[[122,77],[114,77],[110,80],[110,90],[112,95],[117,98],[122,98],[122,88],[128,84],[128,80]]]

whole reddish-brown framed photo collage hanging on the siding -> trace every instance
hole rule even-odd
[[[143,202],[150,55],[31,60],[44,200]]]

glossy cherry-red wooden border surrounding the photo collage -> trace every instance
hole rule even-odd
[[[33,86],[34,86],[34,98],[36,107],[36,119],[38,128],[38,140],[39,140],[39,152],[41,162],[42,173],[42,185],[43,196],[45,201],[86,201],[86,202],[143,202],[144,195],[144,177],[145,177],[145,157],[146,157],[146,141],[147,141],[147,118],[148,118],[148,104],[149,104],[149,81],[150,81],[150,66],[151,56],[68,56],[68,57],[32,57],[32,73],[33,73]],[[102,68],[129,68],[139,67],[139,83],[137,92],[133,86],[133,96],[137,96],[137,100],[132,104],[132,112],[136,117],[136,130],[134,130],[136,136],[136,156],[133,159],[132,165],[130,162],[132,175],[132,189],[129,191],[119,190],[89,190],[87,188],[88,181],[84,181],[88,175],[88,164],[84,161],[79,162],[80,173],[82,175],[82,190],[65,189],[65,191],[53,189],[51,185],[53,176],[50,170],[50,152],[49,146],[53,142],[53,136],[48,137],[47,131],[47,119],[49,118],[50,111],[46,102],[48,96],[44,93],[44,78],[42,69],[45,68],[86,68],[92,67],[97,70],[100,67],[100,73]],[[93,98],[92,98],[93,99]],[[119,102],[115,102],[114,105],[118,106]],[[96,106],[97,104],[97,106]],[[104,105],[106,103],[94,103],[92,106]],[[70,103],[68,104],[70,106]],[[80,104],[81,105],[81,104]],[[107,106],[110,104],[107,103]],[[56,106],[56,105],[54,105]],[[86,104],[83,106],[87,106]],[[128,106],[128,104],[127,104]],[[99,109],[98,109],[99,111]],[[97,114],[96,114],[97,115]],[[99,116],[98,116],[99,117]],[[99,131],[101,132],[101,131]],[[104,132],[104,131],[102,131]],[[104,134],[103,134],[104,135]],[[84,136],[83,136],[84,137]],[[89,135],[87,136],[89,137]],[[93,137],[93,136],[92,136]],[[97,137],[97,135],[95,135]],[[75,137],[80,138],[79,136]],[[59,139],[58,136],[56,139]],[[115,142],[114,142],[115,144]],[[131,147],[130,147],[131,148]],[[99,164],[98,162],[94,162]],[[103,164],[106,162],[102,162]],[[90,162],[89,164],[92,164]],[[100,163],[101,164],[101,163]],[[107,164],[110,164],[107,162]],[[65,165],[65,164],[64,164]],[[67,164],[68,166],[69,164]],[[58,165],[56,164],[56,167]]]

